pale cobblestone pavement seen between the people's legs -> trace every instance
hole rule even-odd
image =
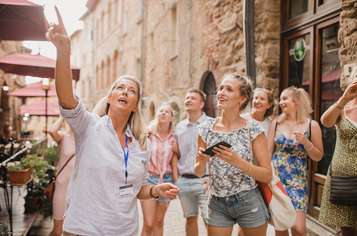
[[[141,204],[138,200],[139,209],[139,235],[141,234],[143,216],[141,211]],[[170,202],[169,208],[167,209],[164,221],[164,236],[186,236],[185,233],[185,218],[183,218],[183,212],[181,208],[180,200],[176,199]],[[52,230],[53,223],[51,220],[41,221],[39,218],[35,225],[32,227],[28,236],[48,236]],[[237,235],[238,226],[233,227],[232,235]],[[207,230],[203,224],[203,219],[198,218],[198,235],[206,236]],[[267,236],[275,236],[274,228],[268,225]],[[309,235],[308,236],[314,236]]]

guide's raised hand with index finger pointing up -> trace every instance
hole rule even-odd
[[[56,6],[55,6],[55,10],[58,19],[58,25],[56,25],[54,22],[51,22],[50,25],[52,26],[52,28],[47,30],[45,37],[55,45],[57,50],[63,50],[66,48],[70,50],[71,40],[68,37],[67,31],[63,24],[62,17]]]

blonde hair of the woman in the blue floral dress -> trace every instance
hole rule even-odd
[[[311,119],[312,107],[311,99],[303,88],[295,88],[291,86],[286,88],[281,93],[290,94],[293,101],[296,103],[296,120],[298,123],[305,122],[306,118]],[[278,117],[278,123],[284,122],[286,120],[286,114],[281,113]]]

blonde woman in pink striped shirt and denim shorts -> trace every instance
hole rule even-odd
[[[177,169],[172,163],[178,160],[172,150],[174,131],[172,130],[174,111],[169,105],[159,107],[157,116],[148,125],[149,139],[152,144],[148,184],[174,183],[172,174],[177,176]],[[175,173],[172,173],[172,172]],[[169,199],[160,197],[141,201],[144,225],[141,236],[162,236],[164,231],[164,217],[169,207]]]

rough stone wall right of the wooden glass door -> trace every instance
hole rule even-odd
[[[338,30],[338,42],[341,43],[340,56],[341,68],[343,65],[357,62],[357,1],[341,0],[340,30]],[[344,90],[348,83],[342,72],[341,88]]]

